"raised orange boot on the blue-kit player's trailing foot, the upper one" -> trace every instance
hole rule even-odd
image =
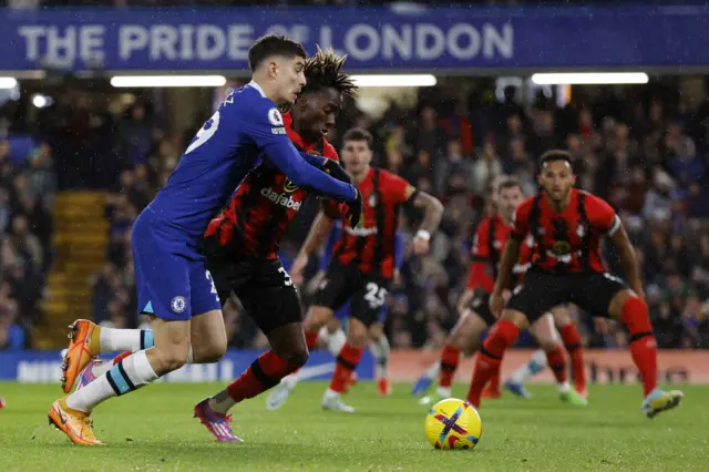
[[[62,365],[62,389],[69,393],[76,381],[79,373],[86,365],[99,355],[101,347],[99,337],[101,327],[88,319],[78,319],[71,326],[69,334],[69,349]]]

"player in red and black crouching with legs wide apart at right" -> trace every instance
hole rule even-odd
[[[480,407],[483,388],[496,374],[505,350],[521,330],[552,307],[574,302],[594,315],[608,314],[628,328],[630,353],[643,380],[645,415],[653,418],[677,407],[681,391],[657,388],[657,345],[635,250],[620,218],[602,198],[573,187],[576,176],[567,152],[544,153],[540,166],[543,192],[525,199],[515,213],[512,237],[490,297],[491,310],[501,312],[501,318],[477,356],[467,400]],[[503,290],[512,280],[520,245],[528,234],[536,242],[535,258],[503,309]],[[599,248],[604,235],[616,246],[630,288],[606,271]]]

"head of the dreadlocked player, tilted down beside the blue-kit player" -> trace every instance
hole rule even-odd
[[[300,91],[291,109],[294,127],[306,140],[314,142],[335,127],[335,119],[342,106],[342,98],[354,98],[357,85],[340,71],[346,55],[339,57],[332,48],[306,60],[307,85]]]

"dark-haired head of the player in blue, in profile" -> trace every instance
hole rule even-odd
[[[294,103],[306,85],[306,50],[286,37],[263,37],[248,50],[254,79],[277,104]]]

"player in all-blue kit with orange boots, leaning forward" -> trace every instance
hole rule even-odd
[[[50,422],[72,442],[102,444],[90,418],[101,402],[151,383],[188,361],[213,362],[224,355],[226,331],[219,298],[198,244],[209,218],[259,164],[277,166],[294,185],[351,202],[352,224],[357,224],[359,191],[318,170],[326,164],[323,157],[299,153],[277,109],[294,103],[306,85],[305,65],[306,53],[299,43],[276,35],[258,40],[249,50],[253,81],[227,96],[197,132],[165,187],[138,215],[132,235],[138,307],[153,317],[153,329],[151,336],[138,331],[138,342],[120,348],[144,350],[52,404]],[[74,325],[64,362],[64,391],[96,353],[115,350],[116,346],[104,345],[111,338],[110,331],[96,330],[93,324]]]

